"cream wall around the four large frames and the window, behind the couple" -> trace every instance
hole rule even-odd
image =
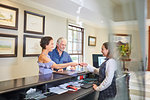
[[[56,16],[51,13],[43,12],[38,9],[34,9],[21,4],[13,3],[8,0],[0,0],[0,3],[16,7],[19,9],[18,30],[0,28],[0,33],[14,34],[18,36],[17,57],[0,58],[0,81],[37,75],[39,70],[37,64],[37,57],[23,57],[23,35],[24,34],[35,35],[23,32],[24,10],[45,15],[45,35],[52,36],[55,43],[59,37],[67,36],[67,18]],[[85,58],[86,58],[85,61],[87,63],[92,64],[92,54],[100,53],[102,42],[107,41],[107,34],[104,31],[104,29],[97,29],[87,24],[84,25],[84,28],[85,28]],[[89,35],[97,36],[97,44],[95,47],[88,46]]]

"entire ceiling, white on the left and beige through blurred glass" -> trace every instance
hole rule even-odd
[[[103,21],[135,20],[134,0],[10,0],[66,18],[102,25]],[[149,1],[149,0],[148,0]],[[80,13],[79,13],[80,10]]]

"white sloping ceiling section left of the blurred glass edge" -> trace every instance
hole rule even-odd
[[[95,24],[101,24],[103,17],[100,14],[96,0],[30,0],[63,13],[79,17]],[[80,13],[79,13],[80,10]],[[77,12],[78,11],[78,12]]]

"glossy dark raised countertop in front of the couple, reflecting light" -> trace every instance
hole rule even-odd
[[[45,74],[45,75],[36,75],[31,77],[18,78],[13,80],[1,81],[0,82],[0,94],[5,92],[10,92],[22,88],[37,86],[61,79],[69,78],[68,75],[61,74]]]

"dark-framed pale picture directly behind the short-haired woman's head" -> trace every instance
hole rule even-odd
[[[23,57],[38,56],[41,53],[41,38],[39,36],[24,35]]]

